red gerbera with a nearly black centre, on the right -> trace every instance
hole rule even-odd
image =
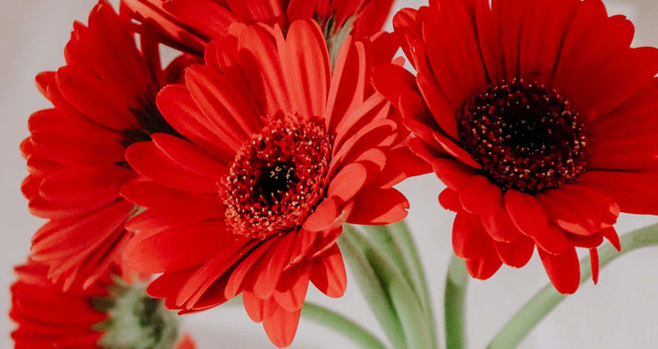
[[[379,69],[413,150],[448,186],[452,243],[471,275],[522,267],[535,247],[557,291],[578,289],[576,248],[620,211],[658,213],[658,50],[600,0],[430,1],[395,18],[418,71]]]

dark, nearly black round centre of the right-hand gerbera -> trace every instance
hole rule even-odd
[[[504,189],[537,193],[574,183],[586,170],[589,138],[578,111],[542,84],[489,85],[458,120],[462,146]]]

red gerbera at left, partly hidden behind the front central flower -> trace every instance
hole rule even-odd
[[[74,280],[89,285],[119,258],[130,237],[123,225],[134,209],[119,195],[135,176],[126,146],[151,132],[175,133],[157,111],[155,94],[178,79],[190,58],[161,69],[157,44],[143,37],[138,50],[104,0],[91,11],[89,26],[75,24],[65,56],[65,67],[37,76],[54,108],[30,117],[31,135],[21,150],[29,208],[50,219],[32,240],[32,258],[69,287]]]

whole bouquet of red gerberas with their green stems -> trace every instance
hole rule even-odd
[[[468,275],[537,251],[552,286],[490,344],[510,348],[658,244],[614,227],[658,214],[658,49],[631,48],[630,21],[600,0],[430,0],[389,33],[392,5],[100,0],[37,75],[52,107],[29,118],[21,191],[48,222],[16,267],[16,348],[192,348],[178,315],[240,299],[277,347],[303,316],[364,348],[459,349]],[[429,173],[456,214],[445,338],[397,189]],[[311,283],[341,297],[346,269],[387,341],[305,304]]]

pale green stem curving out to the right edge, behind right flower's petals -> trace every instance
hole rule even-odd
[[[603,269],[610,261],[621,257],[635,249],[658,245],[658,224],[643,227],[621,236],[621,252],[618,252],[610,244],[599,249],[600,269]],[[580,282],[589,280],[591,267],[589,258],[580,260]],[[509,322],[496,334],[487,348],[502,349],[514,348],[525,336],[551,312],[557,304],[567,298],[560,294],[549,283],[541,291],[536,293],[523,308],[515,313]]]

